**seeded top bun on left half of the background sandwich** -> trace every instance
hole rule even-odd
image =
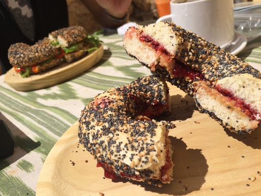
[[[49,44],[48,39],[44,38],[32,46],[21,42],[12,44],[8,50],[8,59],[12,66],[28,67],[61,53],[61,47]]]

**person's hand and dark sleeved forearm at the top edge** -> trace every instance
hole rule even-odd
[[[102,27],[119,27],[128,20],[132,0],[81,0]]]

